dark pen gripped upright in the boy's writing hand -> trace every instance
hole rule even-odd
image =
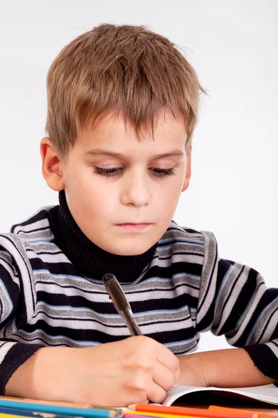
[[[104,274],[102,281],[104,282],[106,290],[109,293],[115,309],[117,310],[118,314],[122,316],[122,319],[126,323],[126,326],[129,328],[131,335],[142,335],[142,332],[138,327],[136,320],[134,319],[130,304],[128,300],[126,300],[124,291],[122,290],[120,283],[117,281],[115,274]]]

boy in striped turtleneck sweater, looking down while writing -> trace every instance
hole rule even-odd
[[[40,152],[60,205],[0,235],[1,394],[129,405],[174,384],[277,381],[278,290],[172,221],[202,91],[140,26],[97,26],[52,63]],[[144,336],[129,336],[107,272]],[[205,330],[238,348],[188,354]]]

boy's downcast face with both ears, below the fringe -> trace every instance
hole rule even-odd
[[[183,122],[161,116],[154,139],[146,133],[138,140],[122,118],[107,116],[81,131],[65,164],[50,139],[42,139],[42,171],[49,187],[65,188],[76,224],[110,253],[138,255],[152,247],[188,187],[190,153],[186,157]]]

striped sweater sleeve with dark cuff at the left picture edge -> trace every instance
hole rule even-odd
[[[8,245],[13,247],[13,240],[0,235],[0,395],[5,394],[6,384],[17,368],[42,347],[8,337],[17,327],[19,312],[24,316],[26,303],[21,288],[23,268],[19,268],[20,259],[7,250]]]

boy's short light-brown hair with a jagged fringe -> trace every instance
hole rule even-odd
[[[145,26],[101,24],[66,45],[47,74],[46,131],[63,159],[88,118],[120,112],[138,136],[167,110],[183,118],[191,144],[199,84],[177,47]]]

